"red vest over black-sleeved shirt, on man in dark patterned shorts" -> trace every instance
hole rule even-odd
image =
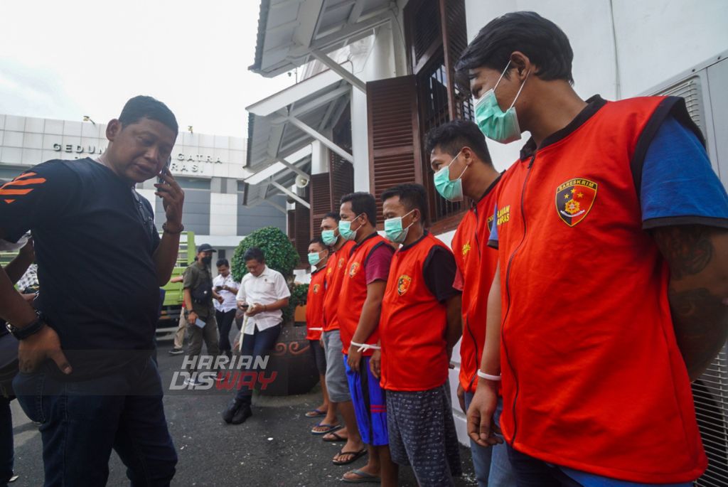
[[[425,234],[392,257],[381,303],[381,380],[383,389],[426,391],[448,378],[447,308],[424,281],[424,263],[439,239]]]

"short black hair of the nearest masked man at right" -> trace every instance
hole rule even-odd
[[[529,57],[539,70],[532,74],[540,79],[564,79],[574,84],[571,76],[574,51],[569,38],[558,25],[536,12],[510,12],[481,28],[455,65],[458,83],[469,92],[468,70],[484,67],[503,71],[514,51]]]

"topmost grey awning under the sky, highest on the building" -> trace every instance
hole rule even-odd
[[[392,20],[396,8],[390,0],[262,0],[256,59],[249,69],[272,77],[312,57],[334,69],[326,52],[370,35]]]

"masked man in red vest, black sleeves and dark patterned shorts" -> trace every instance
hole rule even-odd
[[[389,451],[397,464],[412,466],[420,487],[453,486],[453,476],[462,474],[447,384],[462,329],[455,258],[424,229],[424,186],[400,184],[381,200],[386,237],[402,245],[381,303],[381,351],[371,360],[387,391]]]

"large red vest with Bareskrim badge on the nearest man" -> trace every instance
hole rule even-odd
[[[590,104],[508,171],[496,215],[507,441],[641,483],[691,481],[707,464],[668,267],[630,172],[663,100]]]

